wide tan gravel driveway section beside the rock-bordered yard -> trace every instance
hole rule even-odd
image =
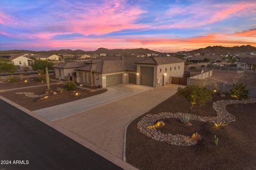
[[[174,95],[178,87],[147,90],[54,123],[122,159],[126,125]]]

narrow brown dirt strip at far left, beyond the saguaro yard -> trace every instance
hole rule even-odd
[[[25,80],[28,80],[25,82]],[[50,80],[50,83],[56,83],[58,81]],[[33,78],[22,78],[21,81],[17,82],[17,84],[10,83],[7,80],[0,83],[0,90],[6,90],[6,89],[15,89],[15,88],[21,88],[21,87],[29,87],[29,86],[37,86],[46,84],[46,81],[43,83],[41,81],[37,81],[37,77]]]

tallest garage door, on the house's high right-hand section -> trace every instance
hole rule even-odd
[[[154,67],[140,67],[140,84],[144,86],[153,86]]]

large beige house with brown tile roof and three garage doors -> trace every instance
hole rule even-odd
[[[117,57],[108,56],[78,63],[54,66],[56,78],[74,76],[86,86],[108,87],[133,83],[158,87],[171,83],[172,77],[183,77],[185,61],[176,57]],[[68,75],[67,75],[68,74]]]

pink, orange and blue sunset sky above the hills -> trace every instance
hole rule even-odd
[[[256,46],[253,1],[0,0],[0,50]]]

